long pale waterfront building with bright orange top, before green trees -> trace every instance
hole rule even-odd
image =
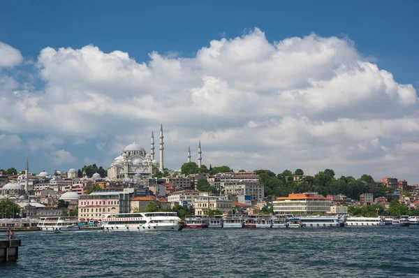
[[[329,212],[331,202],[317,193],[292,193],[273,201],[275,214],[309,215]]]

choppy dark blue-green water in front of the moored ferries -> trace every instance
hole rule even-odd
[[[0,277],[419,277],[419,228],[17,233]]]

